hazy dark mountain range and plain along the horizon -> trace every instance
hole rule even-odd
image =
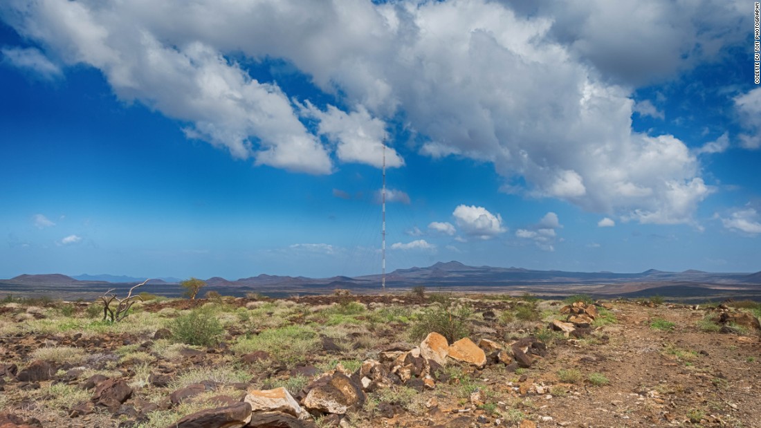
[[[144,277],[116,276],[110,274],[81,274],[68,277],[62,274],[23,274],[8,280],[0,280],[0,290],[30,290],[37,287],[39,291],[57,290],[117,290],[129,289],[131,284],[145,281]],[[291,277],[260,274],[228,280],[223,277],[211,277],[206,280],[209,290],[220,293],[242,295],[247,291],[260,293],[330,293],[336,288],[349,288],[356,292],[377,291],[380,288],[380,274],[358,277],[335,276],[326,278]],[[143,290],[151,293],[180,293],[177,283],[180,279],[162,277],[151,279]],[[664,290],[667,293],[684,295],[684,290],[698,294],[705,290],[724,290],[731,293],[759,293],[761,295],[761,271],[755,273],[712,273],[688,270],[683,272],[666,272],[650,269],[633,274],[616,274],[613,272],[572,272],[539,271],[524,268],[495,268],[492,266],[468,266],[460,262],[438,262],[427,268],[396,269],[386,275],[386,286],[409,288],[423,285],[430,289],[447,288],[451,290],[494,290],[506,288],[517,290],[544,290],[546,292],[564,292],[579,289],[598,294],[644,293],[643,290]],[[681,291],[680,291],[681,290]],[[101,293],[103,292],[101,291]],[[681,293],[681,294],[680,294]]]

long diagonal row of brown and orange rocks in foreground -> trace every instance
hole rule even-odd
[[[446,380],[443,367],[453,361],[474,369],[489,364],[515,369],[530,367],[545,356],[546,346],[536,338],[521,338],[505,344],[488,339],[476,344],[470,338],[462,338],[449,344],[441,334],[430,333],[418,347],[390,347],[379,353],[378,360],[365,360],[353,373],[339,364],[335,370],[317,376],[295,397],[285,388],[250,388],[239,403],[189,414],[172,426],[309,428],[316,426],[314,417],[322,417],[323,421],[332,421],[335,425],[347,412],[361,409],[366,394],[379,388],[406,385],[419,391],[435,389],[437,382]],[[393,417],[393,408],[383,410],[382,414]]]

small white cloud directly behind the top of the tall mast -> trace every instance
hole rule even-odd
[[[320,111],[307,101],[302,112],[320,121],[317,133],[326,135],[337,144],[336,154],[343,162],[365,163],[376,168],[383,166],[384,140],[387,138],[386,124],[372,118],[364,106],[358,111],[345,113],[334,106],[326,112]],[[386,147],[386,167],[404,165],[404,160],[391,147]]]

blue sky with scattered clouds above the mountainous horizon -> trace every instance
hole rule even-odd
[[[0,277],[761,270],[753,2],[0,5]]]

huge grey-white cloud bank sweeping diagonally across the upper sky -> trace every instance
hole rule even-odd
[[[334,155],[377,166],[385,124],[402,121],[422,137],[410,141],[428,141],[419,153],[493,163],[505,182],[525,183],[511,192],[673,224],[693,222],[712,187],[683,141],[632,129],[637,111],[659,116],[632,94],[743,42],[738,22],[750,15],[741,9],[708,0],[11,0],[2,13],[66,64],[100,69],[120,99],[257,164],[330,173]],[[250,78],[240,56],[288,62],[348,107],[297,103]],[[736,103],[750,113],[748,100]],[[757,136],[743,144],[761,145]]]

